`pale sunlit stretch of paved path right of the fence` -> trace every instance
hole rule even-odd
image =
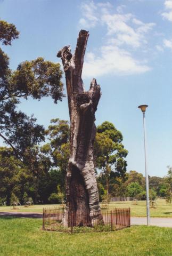
[[[146,217],[131,217],[131,225],[146,225]],[[172,228],[172,218],[150,218],[151,226]]]

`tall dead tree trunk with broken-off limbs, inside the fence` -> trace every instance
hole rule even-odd
[[[74,226],[93,226],[96,220],[102,219],[93,161],[94,114],[101,92],[96,79],[93,78],[87,92],[81,79],[88,36],[88,31],[80,30],[74,55],[70,46],[64,46],[57,54],[65,71],[71,125],[65,212],[74,214]],[[83,214],[89,214],[91,218],[85,218]]]

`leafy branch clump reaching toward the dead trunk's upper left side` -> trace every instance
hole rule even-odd
[[[62,71],[59,63],[45,61],[44,58],[22,62],[10,79],[9,93],[14,97],[34,99],[51,96],[54,102],[62,100]]]

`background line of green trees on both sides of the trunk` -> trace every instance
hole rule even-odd
[[[28,200],[34,203],[61,203],[65,199],[65,173],[69,159],[69,123],[57,119],[45,130],[47,143],[32,148],[32,158],[23,163],[13,150],[0,148],[0,202],[10,205]],[[112,138],[112,139],[111,139]],[[122,134],[110,122],[97,126],[95,172],[100,200],[130,196],[146,199],[145,178],[136,171],[126,172],[127,150]],[[172,171],[165,178],[149,177],[150,198],[171,198]]]

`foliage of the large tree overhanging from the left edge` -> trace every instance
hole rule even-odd
[[[0,41],[11,45],[19,32],[13,24],[0,21]],[[0,137],[11,146],[20,159],[31,154],[31,147],[44,140],[44,127],[36,119],[17,110],[20,98],[41,99],[52,97],[54,102],[62,100],[62,71],[59,63],[43,58],[23,61],[17,70],[9,68],[9,58],[0,48]],[[27,152],[29,152],[27,154]]]

